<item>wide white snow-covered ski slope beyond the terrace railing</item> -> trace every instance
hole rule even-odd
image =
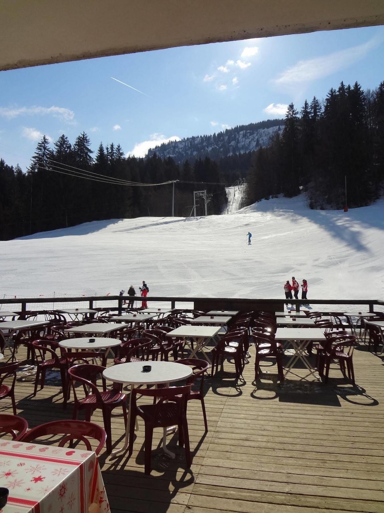
[[[93,222],[0,251],[0,297],[116,294],[145,279],[153,295],[276,298],[295,275],[309,298],[384,298],[384,201],[345,213],[298,196],[232,215]]]

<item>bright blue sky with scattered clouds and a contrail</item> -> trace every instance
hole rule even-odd
[[[367,27],[3,71],[0,156],[25,169],[42,133],[72,143],[82,131],[94,150],[114,142],[142,156],[170,137],[282,117],[342,80],[376,87],[383,49],[384,27]]]

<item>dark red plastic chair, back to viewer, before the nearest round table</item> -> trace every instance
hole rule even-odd
[[[187,467],[191,465],[188,423],[186,417],[186,404],[191,385],[170,388],[142,389],[134,388],[131,399],[131,421],[129,454],[133,452],[133,439],[135,433],[136,418],[141,417],[145,425],[144,440],[144,471],[151,473],[151,451],[153,430],[156,427],[170,427],[177,425],[179,430],[179,445],[185,445],[185,459]],[[156,404],[143,404],[138,406],[136,396],[153,397],[158,399]]]

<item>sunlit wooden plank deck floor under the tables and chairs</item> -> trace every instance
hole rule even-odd
[[[268,374],[255,387],[251,358],[245,382],[236,387],[233,366],[226,363],[225,372],[206,381],[207,433],[200,402],[188,404],[190,469],[176,436],[168,439],[176,460],[164,455],[160,430],[154,436],[151,476],[144,475],[142,428],[130,459],[101,455],[111,511],[382,513],[384,366],[365,348],[355,350],[354,365],[356,387],[340,379],[335,366],[327,386],[290,379],[280,387]],[[32,390],[31,382],[16,383],[18,413],[30,427],[71,417],[71,405],[62,409],[59,386],[46,385],[35,398]],[[7,401],[0,402],[0,410],[10,411]],[[92,421],[102,425],[99,412]],[[112,430],[121,446],[122,416],[114,417]]]

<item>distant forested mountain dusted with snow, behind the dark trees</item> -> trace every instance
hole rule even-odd
[[[283,129],[283,120],[266,120],[249,125],[228,128],[212,135],[197,135],[181,141],[163,143],[148,151],[147,156],[156,153],[160,157],[172,157],[178,164],[194,161],[206,156],[220,159],[234,153],[246,153],[268,146],[272,135]]]

